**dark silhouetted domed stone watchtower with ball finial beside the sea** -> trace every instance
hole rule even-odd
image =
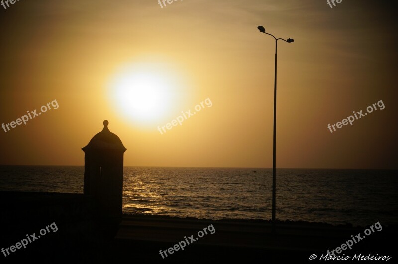
[[[123,155],[126,148],[109,131],[109,122],[82,148],[84,151],[83,193],[94,198],[99,213],[121,218],[123,198]]]

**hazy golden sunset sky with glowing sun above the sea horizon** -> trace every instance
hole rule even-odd
[[[0,164],[83,165],[106,119],[125,166],[272,167],[263,25],[295,40],[278,41],[276,166],[398,168],[396,1],[170,2],[0,6]]]

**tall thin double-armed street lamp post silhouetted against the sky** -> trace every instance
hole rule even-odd
[[[273,35],[265,32],[265,28],[263,26],[258,26],[258,30],[261,33],[272,36],[275,39],[275,79],[274,79],[274,153],[272,157],[272,233],[275,233],[275,197],[276,197],[276,174],[275,174],[275,159],[276,159],[276,127],[277,127],[277,47],[278,40],[281,39],[288,43],[292,43],[294,40],[292,38],[288,38],[285,40],[283,38],[276,38]]]

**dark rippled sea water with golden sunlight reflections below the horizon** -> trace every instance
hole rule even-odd
[[[398,224],[397,173],[277,169],[276,218]],[[83,166],[0,166],[0,190],[83,193],[83,176]],[[272,169],[124,167],[128,213],[271,219],[271,199]]]

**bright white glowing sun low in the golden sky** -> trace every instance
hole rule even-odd
[[[154,124],[166,116],[178,100],[178,83],[168,68],[158,64],[124,67],[109,85],[117,112],[134,123]]]

